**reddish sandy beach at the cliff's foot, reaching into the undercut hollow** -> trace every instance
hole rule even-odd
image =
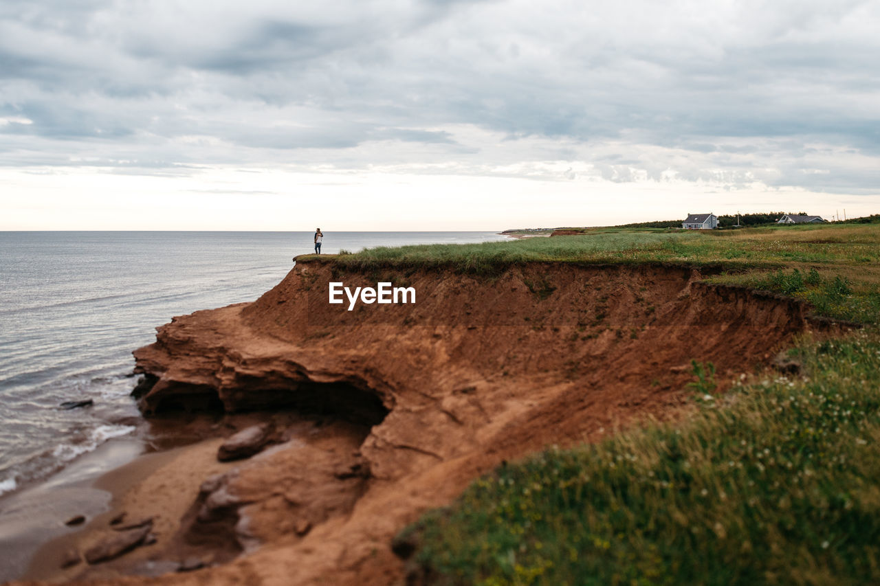
[[[82,458],[78,466],[17,495],[22,538],[13,552],[15,558],[10,558],[16,565],[8,568],[21,583],[112,583],[124,576],[163,575],[236,558],[242,548],[229,538],[231,527],[225,526],[226,519],[187,530],[202,508],[200,487],[206,479],[225,472],[235,474],[244,464],[259,464],[260,458],[219,461],[218,448],[224,436],[267,419],[273,429],[282,432],[270,439],[275,448],[265,453],[287,450],[310,462],[322,455],[334,460],[339,450],[350,452],[365,433],[360,426],[306,418],[291,411],[268,416],[233,414],[219,420],[209,415],[187,417],[187,421],[177,418],[180,429],[176,436],[168,429],[174,420],[160,420],[154,433],[164,430],[165,435],[154,439],[164,444],[162,450],[142,453],[152,448],[136,439],[108,442]],[[215,436],[193,443],[194,437],[209,434]],[[186,445],[170,447],[175,442]],[[39,522],[34,522],[35,515]],[[76,516],[84,516],[85,521],[76,527],[64,525]],[[124,532],[121,529],[142,526],[148,520],[150,535],[142,544],[112,560],[94,564],[84,560],[84,553],[92,547],[118,537]],[[8,531],[13,521],[6,519]]]

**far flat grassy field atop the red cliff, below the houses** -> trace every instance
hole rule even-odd
[[[736,231],[596,228],[583,236],[378,247],[331,258],[359,270],[445,267],[482,275],[529,261],[711,265],[722,270],[711,282],[802,297],[829,318],[880,321],[880,223]]]

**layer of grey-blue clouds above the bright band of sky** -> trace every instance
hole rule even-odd
[[[880,190],[876,3],[551,4],[7,0],[4,165],[555,158],[620,182]]]

